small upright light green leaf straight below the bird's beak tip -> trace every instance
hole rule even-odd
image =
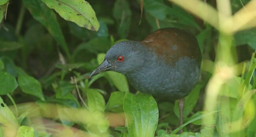
[[[98,90],[89,88],[87,90],[87,98],[91,112],[94,112],[95,110],[103,112],[105,110],[105,100]]]

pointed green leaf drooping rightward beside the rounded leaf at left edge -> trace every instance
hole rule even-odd
[[[41,88],[41,83],[39,83],[37,79],[28,75],[21,75],[18,77],[18,83],[21,90],[24,93],[37,96],[39,97],[39,99],[45,101],[42,88]]]

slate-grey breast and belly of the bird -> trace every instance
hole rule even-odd
[[[126,75],[131,85],[140,92],[178,99],[189,94],[196,85],[200,68],[195,59],[181,58],[174,66],[152,59]]]

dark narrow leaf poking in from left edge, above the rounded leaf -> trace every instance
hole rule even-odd
[[[0,52],[19,49],[23,45],[14,41],[0,41]]]

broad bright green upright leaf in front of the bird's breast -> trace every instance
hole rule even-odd
[[[127,92],[124,96],[124,113],[129,137],[154,137],[158,124],[158,106],[152,96]]]

